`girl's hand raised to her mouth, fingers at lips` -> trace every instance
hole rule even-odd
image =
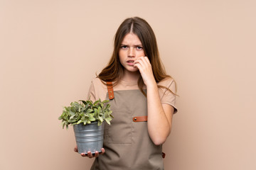
[[[142,79],[146,86],[156,83],[148,57],[139,57],[134,61],[134,67],[139,69],[139,72],[142,75]]]

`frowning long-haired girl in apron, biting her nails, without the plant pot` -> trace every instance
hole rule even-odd
[[[96,157],[91,169],[164,169],[161,146],[177,111],[175,93],[149,23],[139,17],[124,20],[110,62],[92,80],[88,94],[92,101],[110,100],[114,116],[105,125],[102,150],[81,154]]]

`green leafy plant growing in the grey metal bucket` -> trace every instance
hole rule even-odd
[[[96,121],[98,125],[102,125],[104,120],[110,125],[110,120],[112,120],[113,116],[111,115],[110,104],[107,104],[107,102],[107,100],[98,100],[94,103],[90,100],[72,102],[70,106],[63,107],[63,113],[58,119],[62,120],[61,125],[66,129],[68,129],[68,125],[80,123],[86,125]]]

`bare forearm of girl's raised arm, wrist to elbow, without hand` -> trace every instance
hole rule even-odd
[[[148,131],[155,145],[161,145],[171,132],[171,121],[166,117],[156,83],[146,86]]]

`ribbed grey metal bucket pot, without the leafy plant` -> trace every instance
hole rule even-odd
[[[78,153],[101,152],[103,147],[104,123],[98,126],[97,122],[83,125],[73,125]]]

